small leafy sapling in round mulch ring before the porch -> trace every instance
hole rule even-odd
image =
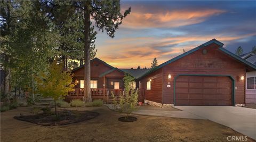
[[[134,78],[129,74],[125,73],[124,80],[124,94],[119,96],[119,103],[117,97],[112,93],[114,98],[114,107],[121,113],[126,113],[127,116],[137,109],[136,105],[138,102],[138,89],[133,89],[132,82]]]

